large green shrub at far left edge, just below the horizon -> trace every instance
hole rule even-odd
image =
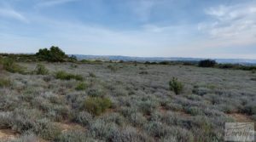
[[[25,74],[25,68],[15,63],[15,60],[5,59],[3,60],[3,69],[12,73]]]

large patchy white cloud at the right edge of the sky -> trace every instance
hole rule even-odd
[[[256,43],[256,3],[221,5],[207,9],[206,14],[211,20],[201,23],[198,27],[212,38],[251,39]]]

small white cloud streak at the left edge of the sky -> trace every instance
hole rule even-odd
[[[23,14],[20,14],[19,12],[15,11],[15,9],[11,8],[0,8],[0,17],[20,20],[25,23],[29,22]]]

